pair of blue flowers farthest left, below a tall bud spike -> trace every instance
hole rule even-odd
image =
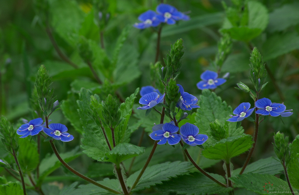
[[[60,123],[52,123],[49,124],[49,128],[45,128],[45,123],[42,118],[36,118],[26,124],[21,125],[21,127],[19,127],[17,130],[17,134],[21,135],[20,138],[26,138],[29,135],[37,135],[41,131],[53,139],[61,140],[63,142],[69,142],[74,139],[74,136],[66,133],[68,129],[65,125]]]

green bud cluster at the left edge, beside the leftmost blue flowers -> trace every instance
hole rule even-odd
[[[5,146],[5,150],[9,153],[13,153],[18,150],[18,144],[16,139],[16,130],[13,129],[13,126],[6,117],[0,117],[0,137],[3,145]]]

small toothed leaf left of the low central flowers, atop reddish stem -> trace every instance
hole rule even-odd
[[[144,148],[135,146],[130,143],[120,143],[116,145],[111,151],[105,154],[102,161],[109,161],[115,164],[119,164],[122,161],[132,158],[135,156],[139,156],[144,153]]]

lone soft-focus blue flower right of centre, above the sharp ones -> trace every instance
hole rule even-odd
[[[218,74],[216,72],[206,70],[201,75],[200,78],[202,81],[199,81],[196,86],[198,89],[215,89],[217,86],[222,85],[226,82],[224,78],[218,78]]]

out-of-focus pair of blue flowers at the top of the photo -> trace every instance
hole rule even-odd
[[[156,8],[157,12],[148,10],[138,17],[140,23],[135,23],[134,27],[144,29],[157,27],[160,23],[175,24],[178,20],[189,20],[189,16],[179,12],[175,7],[161,3]]]

